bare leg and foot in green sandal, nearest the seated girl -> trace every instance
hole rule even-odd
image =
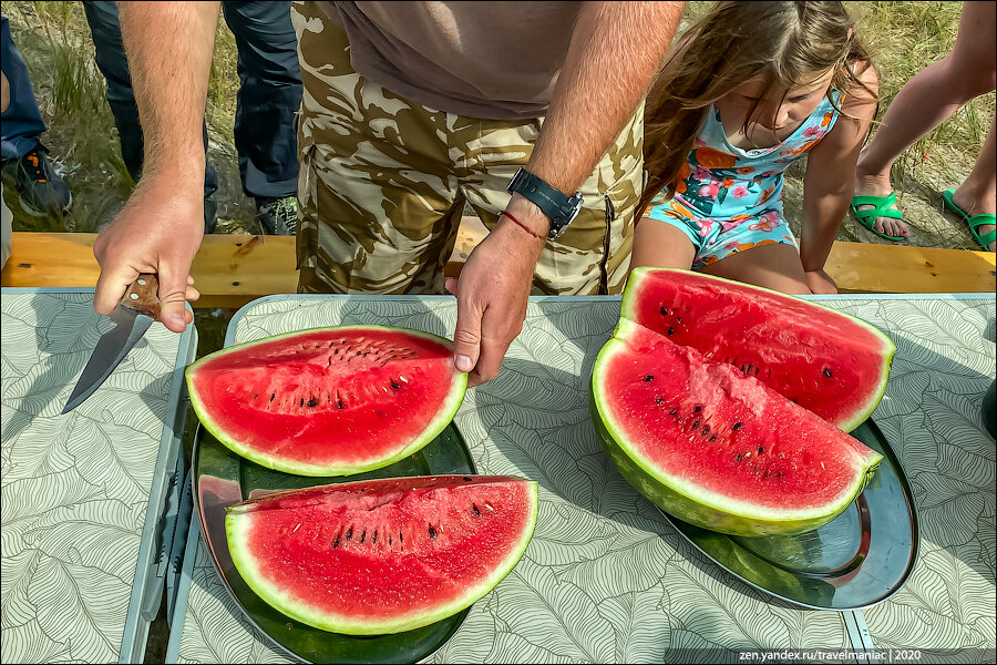
[[[859,155],[856,195],[888,195],[890,168],[900,154],[963,104],[994,90],[995,7],[965,2],[952,52],[921,70],[894,98],[873,141]],[[866,207],[872,206],[859,206]],[[887,235],[908,234],[900,219],[880,217],[874,226]]]

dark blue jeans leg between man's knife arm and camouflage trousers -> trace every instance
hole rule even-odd
[[[234,136],[243,191],[254,198],[294,196],[301,74],[290,2],[225,1],[222,7],[238,47]]]

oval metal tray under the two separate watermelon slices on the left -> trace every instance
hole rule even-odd
[[[291,656],[310,663],[414,663],[446,644],[467,615],[464,610],[422,628],[393,635],[328,633],[289,618],[256,595],[233,564],[225,538],[225,509],[270,492],[371,478],[475,473],[471,453],[453,423],[429,446],[394,464],[335,478],[307,478],[266,469],[232,452],[198,424],[192,466],[202,533],[222,580],[246,618]]]

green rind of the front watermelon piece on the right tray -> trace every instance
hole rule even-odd
[[[664,473],[654,462],[644,458],[633,446],[627,443],[626,437],[618,428],[614,427],[613,417],[600,406],[608,403],[609,400],[608,396],[603,395],[599,383],[602,368],[617,349],[624,350],[627,347],[627,342],[620,339],[620,334],[625,335],[625,330],[629,326],[641,327],[628,319],[620,319],[613,337],[603,346],[596,357],[592,370],[589,409],[603,448],[619,472],[634,489],[668,514],[710,531],[732,535],[802,533],[826,524],[841,514],[872,479],[882,456],[870,450],[872,454],[860,463],[865,467],[865,471],[856,478],[852,487],[846,492],[839,494],[836,501],[811,509],[808,514],[808,511],[777,509],[762,511],[759,510],[759,507],[743,502],[730,502],[729,499],[724,505],[726,497]],[[738,510],[743,512],[739,513]]]

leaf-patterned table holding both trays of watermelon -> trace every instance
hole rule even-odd
[[[921,556],[904,590],[865,612],[801,610],[699,554],[620,477],[590,421],[588,376],[619,299],[537,297],[500,377],[469,391],[455,418],[480,473],[539,483],[536,533],[431,661],[733,662],[742,651],[872,646],[993,661],[995,449],[979,411],[995,374],[995,299],[818,299],[888,331],[897,346],[874,418],[921,513]],[[226,344],[349,323],[452,336],[455,319],[450,297],[267,297],[236,315]],[[196,520],[166,659],[289,659],[243,618]]]

